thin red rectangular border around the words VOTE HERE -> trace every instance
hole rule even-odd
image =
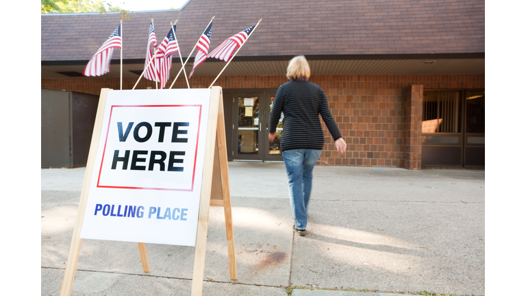
[[[150,188],[150,187],[131,187],[131,186],[105,186],[99,185],[101,181],[102,164],[104,163],[104,156],[106,153],[106,144],[108,143],[108,134],[110,134],[110,125],[112,123],[112,113],[114,107],[199,107],[199,121],[197,123],[197,140],[195,143],[195,156],[194,156],[194,167],[192,172],[192,186],[190,189],[177,189],[177,188]],[[193,191],[194,180],[195,180],[195,165],[197,162],[197,147],[199,146],[199,131],[201,130],[201,112],[203,111],[202,105],[118,105],[112,106],[110,109],[110,120],[108,121],[108,130],[106,131],[106,138],[104,141],[104,149],[102,152],[101,167],[99,169],[99,177],[97,179],[97,187],[99,188],[121,188],[121,189],[146,189],[146,190],[168,190],[168,191]]]

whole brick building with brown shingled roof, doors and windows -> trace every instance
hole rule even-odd
[[[337,153],[324,126],[320,164],[484,168],[484,9],[484,1],[461,0],[191,0],[179,10],[135,12],[123,25],[123,89],[132,89],[144,68],[152,18],[158,42],[179,20],[183,60],[212,16],[211,50],[262,18],[214,84],[224,90],[229,160],[282,159],[279,141],[268,143],[266,125],[275,92],[287,81],[288,60],[302,54],[348,145]],[[119,89],[118,50],[110,73],[80,73],[120,19],[42,14],[41,87],[93,95]],[[207,88],[225,64],[206,60],[190,87]],[[179,69],[174,58],[168,86]],[[186,88],[184,77],[173,87]],[[142,78],[137,88],[155,82]]]

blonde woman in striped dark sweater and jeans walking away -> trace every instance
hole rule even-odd
[[[310,66],[304,56],[290,60],[286,84],[279,86],[273,103],[268,140],[274,141],[281,112],[284,114],[281,151],[288,176],[290,208],[300,236],[307,234],[307,208],[312,188],[312,169],[321,155],[325,139],[318,114],[327,125],[336,149],[344,152],[343,140],[332,118],[327,97],[321,87],[309,82]]]

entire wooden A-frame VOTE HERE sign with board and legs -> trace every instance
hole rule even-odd
[[[145,272],[145,243],[195,245],[192,295],[201,295],[210,206],[225,210],[236,280],[228,176],[221,87],[103,88],[60,295],[71,294],[82,238],[137,242]]]

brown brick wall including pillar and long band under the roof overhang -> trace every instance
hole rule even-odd
[[[214,77],[192,77],[191,88],[206,88]],[[42,79],[42,88],[75,90],[99,95],[101,88],[119,89],[118,78]],[[326,144],[319,164],[421,169],[421,104],[424,89],[485,88],[484,75],[313,75],[347,143],[347,151],[334,148],[325,125]],[[169,81],[168,84],[171,84]],[[228,88],[278,88],[284,76],[225,76],[214,85]],[[136,79],[123,79],[132,89]],[[138,89],[155,88],[141,79]],[[175,88],[186,88],[178,79]],[[419,96],[419,99],[418,99]],[[415,105],[416,104],[416,105]],[[420,106],[420,114],[416,112]]]

